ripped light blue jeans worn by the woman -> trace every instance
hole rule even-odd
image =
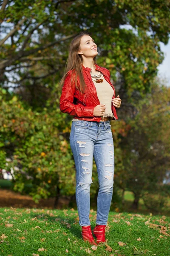
[[[93,156],[99,181],[96,224],[107,225],[114,176],[114,145],[110,121],[72,121],[70,145],[76,166],[79,225],[91,225],[89,214]]]

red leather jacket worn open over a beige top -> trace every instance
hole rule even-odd
[[[82,65],[83,76],[85,79],[85,83],[87,85],[87,90],[85,93],[79,93],[79,90],[75,87],[75,83],[71,85],[71,72],[68,72],[68,75],[65,78],[62,94],[60,97],[59,108],[63,113],[68,113],[69,115],[74,116],[76,119],[82,119],[86,121],[96,121],[100,122],[101,116],[94,116],[94,108],[96,105],[99,105],[99,99],[97,97],[96,87],[94,85],[93,80],[91,79],[91,68],[84,67]],[[114,90],[113,99],[115,98],[115,88],[110,81],[110,71],[105,67],[100,67],[96,64],[96,70],[100,71],[105,80],[111,84],[111,87]],[[79,79],[77,77],[77,84],[79,84]],[[116,114],[116,108],[112,105],[112,119],[118,119]]]

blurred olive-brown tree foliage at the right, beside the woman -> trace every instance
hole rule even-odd
[[[151,93],[138,102],[136,109],[135,118],[127,119],[124,129],[119,129],[124,169],[116,173],[116,182],[158,211],[167,204],[162,182],[170,169],[170,88],[153,82]],[[130,129],[126,133],[127,124]],[[148,197],[155,191],[158,198]]]

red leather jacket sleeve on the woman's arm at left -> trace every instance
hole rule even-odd
[[[75,90],[75,83],[73,83],[73,85],[71,84],[71,74],[69,74],[68,76],[66,76],[62,87],[62,94],[59,101],[60,111],[63,113],[68,113],[71,116],[93,117],[94,107],[74,104]]]

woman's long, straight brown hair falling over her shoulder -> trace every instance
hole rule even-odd
[[[85,92],[86,84],[83,77],[82,71],[82,55],[78,54],[80,50],[80,41],[83,35],[89,35],[88,32],[79,32],[79,34],[71,41],[68,59],[65,65],[65,72],[64,76],[62,77],[61,81],[59,82],[59,86],[62,86],[68,72],[72,70],[71,73],[71,83],[75,82],[75,86],[81,93]],[[91,36],[91,35],[89,35]],[[94,64],[96,63],[96,56],[94,57]],[[72,77],[74,75],[74,79]],[[79,76],[80,86],[77,86],[77,76]]]

